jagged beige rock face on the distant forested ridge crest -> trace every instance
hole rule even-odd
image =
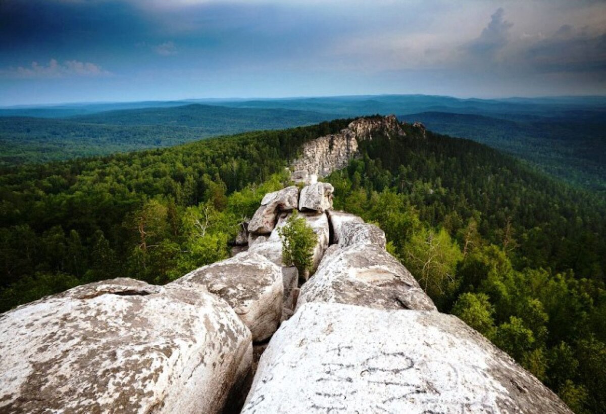
[[[338,134],[321,136],[306,142],[301,158],[292,164],[292,169],[295,170],[293,181],[309,184],[310,175],[325,177],[333,171],[347,167],[349,160],[358,155],[359,142],[373,139],[377,134],[393,137],[405,135],[394,115],[358,118]]]

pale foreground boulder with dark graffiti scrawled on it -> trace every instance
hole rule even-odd
[[[259,361],[242,413],[571,413],[450,315],[310,303]]]

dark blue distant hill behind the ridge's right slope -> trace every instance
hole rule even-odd
[[[550,118],[423,112],[399,117],[435,132],[473,139],[531,161],[573,184],[606,194],[606,118],[599,111],[568,111]]]

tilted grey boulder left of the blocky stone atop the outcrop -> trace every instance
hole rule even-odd
[[[267,193],[261,200],[261,207],[257,209],[248,223],[248,232],[269,234],[276,225],[279,212],[295,210],[299,205],[299,189],[295,185],[285,189]]]

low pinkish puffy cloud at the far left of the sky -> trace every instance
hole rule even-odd
[[[48,65],[32,62],[30,66],[9,67],[0,69],[2,78],[32,79],[32,78],[68,78],[73,76],[108,76],[110,72],[101,66],[90,62],[64,61],[50,59]]]

